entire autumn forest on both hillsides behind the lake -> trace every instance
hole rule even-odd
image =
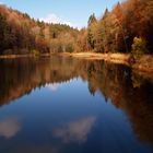
[[[153,0],[118,2],[87,27],[49,24],[0,5],[0,55],[44,52],[153,52]]]

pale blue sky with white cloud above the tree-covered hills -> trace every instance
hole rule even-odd
[[[32,17],[46,22],[66,23],[72,26],[86,26],[89,16],[102,16],[118,0],[0,0],[8,7],[28,13]]]

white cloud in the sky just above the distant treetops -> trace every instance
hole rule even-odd
[[[50,13],[46,17],[42,17],[39,20],[44,21],[46,23],[55,23],[55,24],[60,23],[60,24],[67,24],[67,25],[70,25],[70,26],[74,26],[71,22],[66,21],[62,17],[60,17],[60,16],[54,14],[54,13]]]

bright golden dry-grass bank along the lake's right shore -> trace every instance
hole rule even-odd
[[[149,72],[153,75],[153,55],[143,55],[138,61],[131,63],[130,54],[95,54],[95,52],[76,52],[62,54],[62,56],[71,56],[89,60],[105,60],[114,63],[122,63],[131,67],[134,70]]]

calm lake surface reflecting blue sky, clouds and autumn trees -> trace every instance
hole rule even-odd
[[[151,153],[153,80],[119,64],[0,60],[0,153]]]

